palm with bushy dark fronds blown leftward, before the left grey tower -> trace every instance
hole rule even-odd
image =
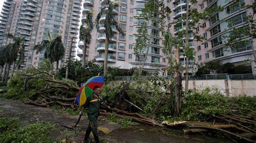
[[[49,59],[52,62],[56,63],[56,71],[58,70],[59,60],[65,55],[65,48],[62,43],[62,37],[60,31],[56,38],[52,38],[50,32],[47,32],[49,40],[43,40],[40,45],[36,45],[34,49],[36,52],[44,51],[44,58]]]

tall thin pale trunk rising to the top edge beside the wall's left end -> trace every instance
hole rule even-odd
[[[186,42],[186,54],[188,54],[188,51],[189,51],[189,48],[190,48],[190,46],[189,46],[189,44],[188,44],[188,9],[189,9],[189,3],[190,3],[190,1],[187,1],[187,6],[186,6],[186,35],[185,35],[185,42]],[[188,55],[186,56],[186,83],[185,83],[185,92],[187,93],[187,91],[188,91],[188,61],[189,61],[189,59],[188,59]]]

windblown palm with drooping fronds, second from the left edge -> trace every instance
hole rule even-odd
[[[24,52],[25,52],[25,46],[24,46],[24,41],[25,41],[25,37],[20,37],[19,35],[14,35],[14,34],[7,34],[8,38],[11,38],[14,40],[13,43],[13,48],[15,50],[15,54],[16,56],[14,57],[14,61],[12,62],[12,68],[11,68],[11,73],[14,72],[15,69],[15,65],[16,65],[16,59],[18,57],[18,53],[19,53],[19,60],[17,62],[17,69],[19,68],[19,66],[21,66],[21,64],[23,63],[24,60]],[[14,52],[14,51],[13,51]]]

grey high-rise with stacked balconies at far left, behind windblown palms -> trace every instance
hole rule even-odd
[[[25,37],[25,60],[22,68],[37,67],[44,52],[36,53],[33,47],[43,39],[49,39],[48,31],[53,38],[60,31],[66,48],[65,58],[59,61],[61,67],[68,58],[71,37],[74,37],[71,56],[76,56],[81,6],[82,0],[5,0],[0,19],[0,46],[7,43],[5,33],[17,33]]]

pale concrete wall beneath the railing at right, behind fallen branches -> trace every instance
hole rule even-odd
[[[185,88],[185,81],[182,81]],[[218,88],[227,96],[256,96],[256,80],[194,80],[188,81],[188,88],[203,90],[207,87]]]

